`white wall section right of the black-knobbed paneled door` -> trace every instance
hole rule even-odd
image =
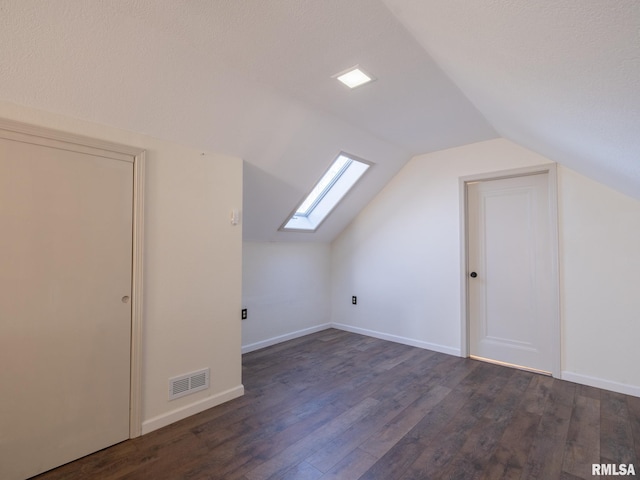
[[[563,377],[640,396],[640,201],[567,168],[559,182]]]

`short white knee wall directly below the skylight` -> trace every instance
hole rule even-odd
[[[242,270],[244,352],[328,327],[329,244],[244,242]]]

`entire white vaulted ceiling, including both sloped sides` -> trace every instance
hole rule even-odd
[[[330,241],[413,155],[498,136],[640,198],[636,0],[0,0],[0,46],[2,100],[243,158],[248,240]],[[278,232],[341,151],[374,168]]]

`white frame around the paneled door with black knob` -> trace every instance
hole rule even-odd
[[[461,286],[461,326],[460,326],[460,354],[462,357],[469,357],[469,235],[467,229],[468,221],[468,193],[467,186],[470,182],[482,182],[489,180],[501,180],[505,178],[523,177],[536,174],[547,174],[548,200],[549,200],[549,234],[551,248],[551,275],[553,293],[551,310],[553,312],[551,352],[552,369],[551,374],[555,378],[561,376],[561,323],[560,323],[560,267],[559,267],[559,236],[558,236],[558,174],[557,164],[545,163],[531,167],[516,168],[510,170],[500,170],[495,172],[478,173],[459,178],[460,193],[460,286]]]

